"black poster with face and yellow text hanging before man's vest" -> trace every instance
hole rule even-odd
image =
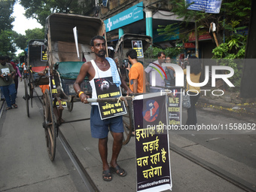
[[[112,77],[94,79],[98,99],[117,98],[122,96],[120,87],[113,83]],[[99,112],[102,120],[126,114],[123,102],[99,102]]]

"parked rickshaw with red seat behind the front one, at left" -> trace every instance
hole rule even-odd
[[[44,53],[44,40],[33,39],[29,41],[25,56],[25,65],[23,65],[23,80],[25,85],[26,113],[29,117],[29,99],[32,99],[34,88],[49,84],[47,77],[47,55]]]

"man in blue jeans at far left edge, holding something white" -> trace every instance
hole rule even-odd
[[[17,93],[15,90],[14,79],[12,78],[12,76],[15,75],[14,68],[10,63],[5,61],[5,56],[0,56],[0,62],[0,88],[8,105],[6,110],[11,109],[12,106],[17,108],[15,103]]]

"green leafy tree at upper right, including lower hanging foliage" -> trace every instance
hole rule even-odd
[[[242,63],[239,62],[245,56],[246,35],[242,32],[248,27],[251,10],[251,0],[223,0],[219,14],[206,14],[203,11],[190,11],[184,1],[171,0],[173,5],[172,12],[178,17],[184,17],[184,25],[194,20],[198,23],[198,29],[209,29],[210,23],[215,22],[217,36],[219,41],[223,41],[218,47],[212,50],[213,58],[218,59],[218,64],[230,66],[234,69],[235,75],[230,78],[236,88],[239,88]],[[160,34],[175,34],[174,25],[165,26],[158,29]],[[190,32],[190,29],[183,29],[184,35]],[[224,35],[223,35],[224,34]],[[236,61],[234,60],[236,59]]]

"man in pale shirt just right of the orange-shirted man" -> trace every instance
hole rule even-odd
[[[162,72],[162,70],[159,70],[159,72],[161,73],[161,75],[159,74],[159,72],[157,72],[156,68],[157,67],[155,64],[159,65],[163,70],[166,69],[166,67],[162,67],[162,63],[164,62],[164,60],[166,59],[166,54],[163,52],[159,52],[157,54],[157,60],[154,61],[153,63],[149,64],[148,67],[145,69],[147,78],[146,78],[146,85],[149,86],[149,90],[151,93],[156,93],[156,92],[160,92],[160,90],[163,90],[163,88],[165,87],[165,82],[164,82],[164,73]],[[154,78],[154,75],[155,78]],[[149,79],[149,81],[148,81]]]

